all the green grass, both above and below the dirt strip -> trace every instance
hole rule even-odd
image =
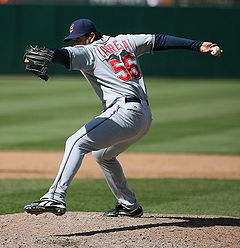
[[[153,124],[131,152],[240,153],[240,80],[146,78]],[[81,77],[0,77],[0,150],[63,150],[66,138],[101,112]],[[1,169],[1,165],[0,165]],[[52,180],[0,180],[0,214],[22,212]],[[145,212],[240,217],[239,180],[130,179]],[[76,179],[69,211],[114,203],[102,179]]]

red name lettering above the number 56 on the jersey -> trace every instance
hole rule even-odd
[[[108,43],[107,45],[101,45],[98,48],[98,51],[104,58],[122,50],[130,51],[130,47],[125,40],[122,41],[113,40],[111,43]]]

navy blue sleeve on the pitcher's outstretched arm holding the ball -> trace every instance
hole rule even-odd
[[[189,40],[165,34],[155,34],[155,43],[153,51],[167,50],[167,49],[189,49],[200,51],[202,41]]]

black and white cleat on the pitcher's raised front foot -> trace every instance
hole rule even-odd
[[[61,216],[66,213],[66,204],[54,199],[43,198],[26,205],[24,211],[35,215],[49,212]]]

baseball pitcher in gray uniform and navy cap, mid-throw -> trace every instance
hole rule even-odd
[[[24,207],[30,214],[66,212],[67,189],[85,154],[100,165],[117,203],[104,216],[140,217],[143,209],[128,187],[117,156],[141,139],[149,130],[152,115],[138,57],[165,49],[190,49],[219,56],[222,50],[212,42],[178,38],[164,34],[102,35],[89,19],[78,19],[64,39],[73,46],[46,49],[28,47],[26,70],[48,80],[49,63],[79,70],[99,97],[103,113],[90,120],[66,141],[59,172],[40,200]]]

